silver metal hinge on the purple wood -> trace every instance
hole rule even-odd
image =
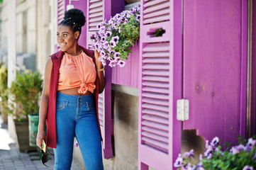
[[[177,100],[177,120],[189,120],[189,100]]]

